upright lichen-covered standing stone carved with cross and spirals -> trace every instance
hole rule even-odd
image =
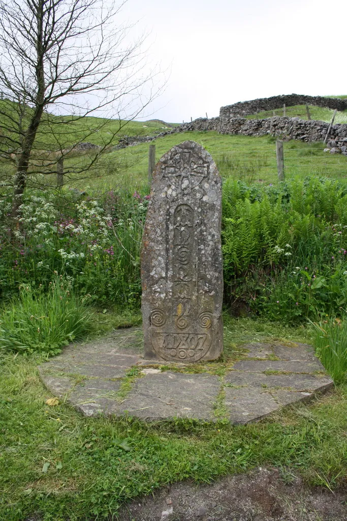
[[[222,182],[185,141],[153,172],[141,253],[145,358],[197,362],[223,350]]]

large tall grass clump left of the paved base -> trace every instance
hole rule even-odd
[[[48,293],[22,286],[19,298],[1,311],[0,350],[57,354],[63,345],[82,337],[90,324],[85,305],[61,278],[50,283]]]

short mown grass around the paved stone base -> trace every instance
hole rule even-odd
[[[311,334],[304,327],[225,316],[226,342],[233,338],[235,345],[282,335],[307,341]],[[125,501],[157,487],[184,479],[209,482],[255,466],[285,467],[331,489],[347,477],[346,386],[247,426],[225,420],[86,419],[63,402],[46,405],[50,395],[38,376],[40,360],[1,356],[2,521],[34,514],[45,521],[110,519]],[[133,377],[127,376],[127,384]],[[215,407],[223,413],[220,401]]]

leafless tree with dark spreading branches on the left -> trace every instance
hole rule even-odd
[[[134,118],[152,99],[143,38],[127,44],[130,27],[118,23],[125,2],[0,0],[0,156],[15,165],[12,217],[19,216],[30,175],[54,171],[57,160],[76,154],[76,140],[117,115],[117,130],[104,133],[89,160],[70,167],[82,175],[124,125],[124,106]],[[85,117],[94,114],[108,117],[91,128]]]

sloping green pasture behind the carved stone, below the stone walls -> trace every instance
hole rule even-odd
[[[157,161],[172,146],[185,140],[196,141],[204,146],[215,160],[223,178],[232,177],[247,183],[277,183],[276,139],[271,136],[226,135],[214,131],[171,134],[156,139]],[[105,157],[108,162],[114,162],[120,168],[104,179],[80,181],[77,183],[79,188],[107,191],[117,186],[134,191],[148,190],[148,148],[149,143],[142,143],[107,154]],[[346,182],[347,159],[338,154],[324,153],[323,149],[323,143],[284,143],[286,179],[316,175]],[[121,165],[130,166],[123,168]]]

